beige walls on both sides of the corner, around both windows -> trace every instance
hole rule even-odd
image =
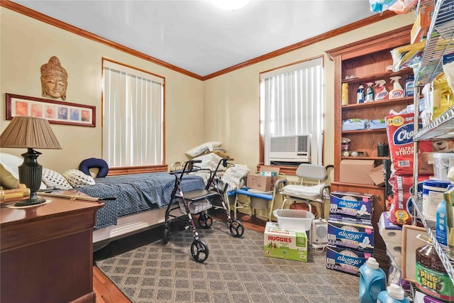
[[[324,54],[325,50],[414,22],[410,13],[387,18],[335,38],[201,82],[165,67],[81,38],[0,7],[0,113],[5,93],[41,97],[40,66],[57,56],[68,72],[68,102],[96,106],[96,128],[52,124],[62,150],[40,150],[39,162],[57,172],[76,168],[85,158],[101,157],[101,57],[165,77],[166,162],[184,160],[184,151],[204,141],[221,141],[235,162],[255,170],[259,151],[259,74]],[[325,55],[325,161],[333,163],[333,62]],[[45,97],[50,99],[49,97]],[[20,155],[23,150],[2,149]]]

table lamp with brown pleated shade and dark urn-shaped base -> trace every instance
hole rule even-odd
[[[0,135],[1,148],[27,148],[22,154],[23,163],[18,167],[19,182],[30,189],[30,198],[16,202],[16,206],[41,204],[45,199],[36,195],[40,189],[43,167],[38,164],[40,152],[33,148],[62,149],[46,119],[15,116]]]

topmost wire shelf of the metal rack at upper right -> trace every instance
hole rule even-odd
[[[454,50],[454,9],[450,0],[436,1],[424,53],[416,68],[414,85],[423,86],[443,72],[441,57]]]

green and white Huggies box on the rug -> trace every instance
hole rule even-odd
[[[267,222],[263,238],[263,255],[307,262],[307,236],[304,231],[287,231],[277,222]]]

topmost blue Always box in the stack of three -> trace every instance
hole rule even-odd
[[[372,219],[372,194],[331,192],[330,214],[341,214],[355,219]]]

